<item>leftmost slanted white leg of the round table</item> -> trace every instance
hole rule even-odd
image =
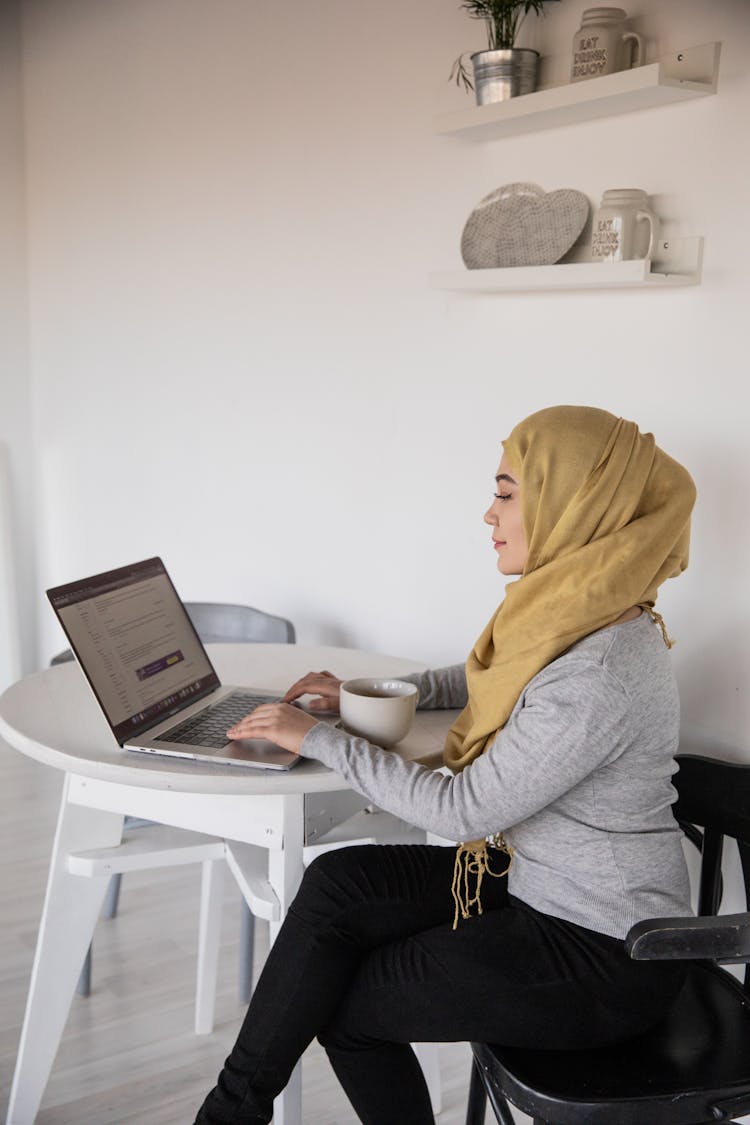
[[[31,1125],[65,1027],[75,982],[91,942],[109,875],[71,875],[67,856],[114,847],[123,816],[70,804],[65,777],[47,891],[31,969],[26,1015],[8,1105],[7,1125]]]

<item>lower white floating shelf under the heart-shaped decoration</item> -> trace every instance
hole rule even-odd
[[[433,289],[466,292],[544,292],[558,289],[653,289],[698,285],[703,238],[660,242],[653,261],[569,262],[499,270],[450,270],[431,276]]]

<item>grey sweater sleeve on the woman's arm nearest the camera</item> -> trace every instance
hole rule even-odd
[[[326,723],[302,740],[387,812],[455,840],[503,831],[545,808],[626,745],[627,693],[600,665],[550,666],[527,685],[490,749],[453,776]]]

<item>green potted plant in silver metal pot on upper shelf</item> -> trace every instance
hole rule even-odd
[[[473,90],[477,105],[505,101],[536,89],[539,52],[516,47],[515,42],[530,11],[537,16],[546,0],[464,0],[461,7],[471,19],[484,19],[487,51],[471,55],[473,80],[463,52],[453,63],[451,78],[466,90]]]

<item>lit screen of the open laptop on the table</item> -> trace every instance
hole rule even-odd
[[[47,597],[120,745],[219,686],[161,559]]]

